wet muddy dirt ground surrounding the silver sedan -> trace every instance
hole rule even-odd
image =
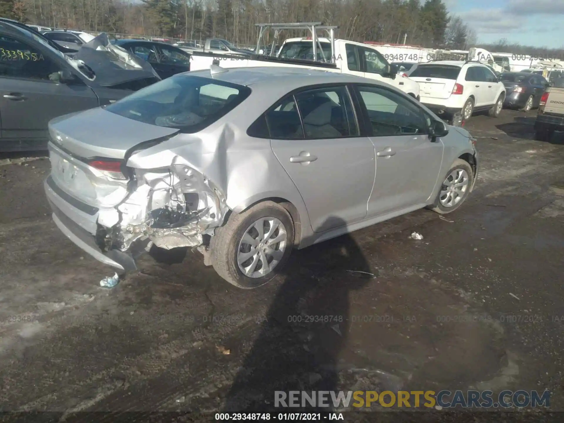
[[[250,291],[191,250],[100,288],[112,269],[51,221],[49,161],[0,166],[0,409],[261,411],[275,390],[475,388],[549,389],[564,411],[564,196],[550,187],[564,137],[532,140],[534,116],[469,122],[481,169],[459,211],[312,246]]]

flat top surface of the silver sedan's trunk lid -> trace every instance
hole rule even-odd
[[[101,107],[60,116],[49,122],[52,142],[81,158],[122,159],[137,144],[165,138],[178,131],[134,121]]]

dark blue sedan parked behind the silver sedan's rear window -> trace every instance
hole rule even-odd
[[[170,44],[141,39],[117,39],[114,43],[148,61],[162,79],[190,70],[190,54]]]

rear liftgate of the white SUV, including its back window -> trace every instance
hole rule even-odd
[[[409,79],[419,83],[421,101],[424,98],[448,99],[460,73],[460,66],[439,63],[420,64]]]

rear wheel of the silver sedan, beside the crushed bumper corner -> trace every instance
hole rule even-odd
[[[210,241],[211,264],[237,288],[253,289],[272,280],[294,246],[294,223],[288,210],[261,202],[231,215]]]

